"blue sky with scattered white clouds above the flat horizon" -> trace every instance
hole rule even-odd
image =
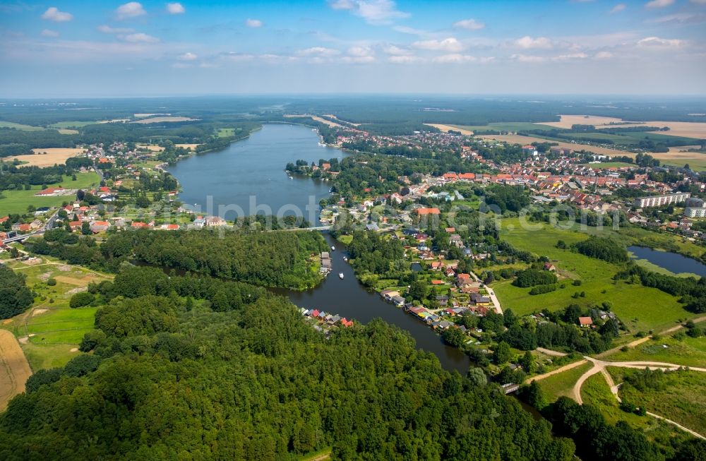
[[[0,0],[0,97],[705,95],[706,0]]]

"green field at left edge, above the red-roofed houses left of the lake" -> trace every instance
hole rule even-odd
[[[77,173],[76,181],[71,181],[71,176],[64,176],[64,181],[61,184],[49,184],[49,187],[57,187],[59,185],[65,188],[72,189],[87,189],[97,186],[100,183],[100,176],[97,173]],[[27,212],[29,205],[35,205],[39,208],[42,206],[58,207],[61,203],[69,202],[76,198],[75,196],[57,196],[57,197],[37,197],[35,193],[42,190],[41,186],[32,186],[29,191],[3,191],[4,198],[0,198],[0,217],[11,213],[24,214]]]

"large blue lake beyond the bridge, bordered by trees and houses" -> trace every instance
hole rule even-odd
[[[330,182],[290,176],[287,162],[342,158],[340,149],[318,145],[311,128],[265,124],[249,138],[223,150],[193,155],[167,171],[179,180],[179,200],[196,212],[227,220],[255,214],[292,215],[318,224],[318,201],[328,198]]]

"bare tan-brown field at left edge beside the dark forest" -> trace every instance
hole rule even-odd
[[[25,383],[32,369],[15,336],[0,330],[0,412],[17,394],[25,392]]]

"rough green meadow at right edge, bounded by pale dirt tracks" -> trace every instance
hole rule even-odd
[[[706,373],[699,371],[673,371],[664,373],[659,388],[645,387],[638,390],[624,383],[626,377],[641,370],[609,367],[616,383],[623,383],[618,395],[648,412],[676,421],[692,431],[706,433]]]

